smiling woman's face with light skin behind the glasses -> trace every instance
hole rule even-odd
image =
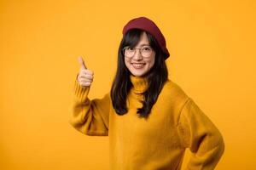
[[[135,48],[143,48],[143,46],[150,46],[148,43],[148,37],[145,32],[143,32],[140,41],[137,43]],[[131,74],[136,77],[143,77],[154,65],[155,52],[153,50],[152,54],[148,58],[143,58],[140,50],[136,50],[133,57],[125,57],[125,65]]]

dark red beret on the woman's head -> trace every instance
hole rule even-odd
[[[167,59],[170,56],[169,51],[166,48],[166,39],[161,33],[158,26],[156,26],[156,24],[154,24],[152,20],[149,20],[146,17],[138,17],[130,20],[123,28],[123,35],[125,35],[127,31],[133,28],[138,28],[143,31],[148,31],[150,34],[152,34],[152,36],[154,36],[156,41],[160,44],[160,48],[162,48],[162,50],[166,54],[165,59]]]

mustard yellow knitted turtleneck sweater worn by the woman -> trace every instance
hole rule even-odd
[[[186,170],[211,170],[224,153],[218,128],[195,101],[170,79],[152,107],[148,120],[137,116],[138,99],[147,82],[130,76],[133,88],[127,96],[128,113],[113,110],[110,94],[102,99],[87,97],[90,87],[74,84],[71,125],[91,136],[109,136],[111,170],[181,169],[184,151],[191,156]]]

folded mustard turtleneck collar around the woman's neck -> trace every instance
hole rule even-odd
[[[143,93],[147,90],[148,82],[146,77],[136,77],[131,74],[130,80],[133,85],[133,88],[131,88],[131,90],[136,94]]]

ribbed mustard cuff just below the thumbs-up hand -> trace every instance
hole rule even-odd
[[[79,84],[77,79],[75,80],[73,93],[77,99],[79,99],[80,101],[85,101],[85,99],[89,94],[89,91],[90,91],[90,86],[83,87]]]

